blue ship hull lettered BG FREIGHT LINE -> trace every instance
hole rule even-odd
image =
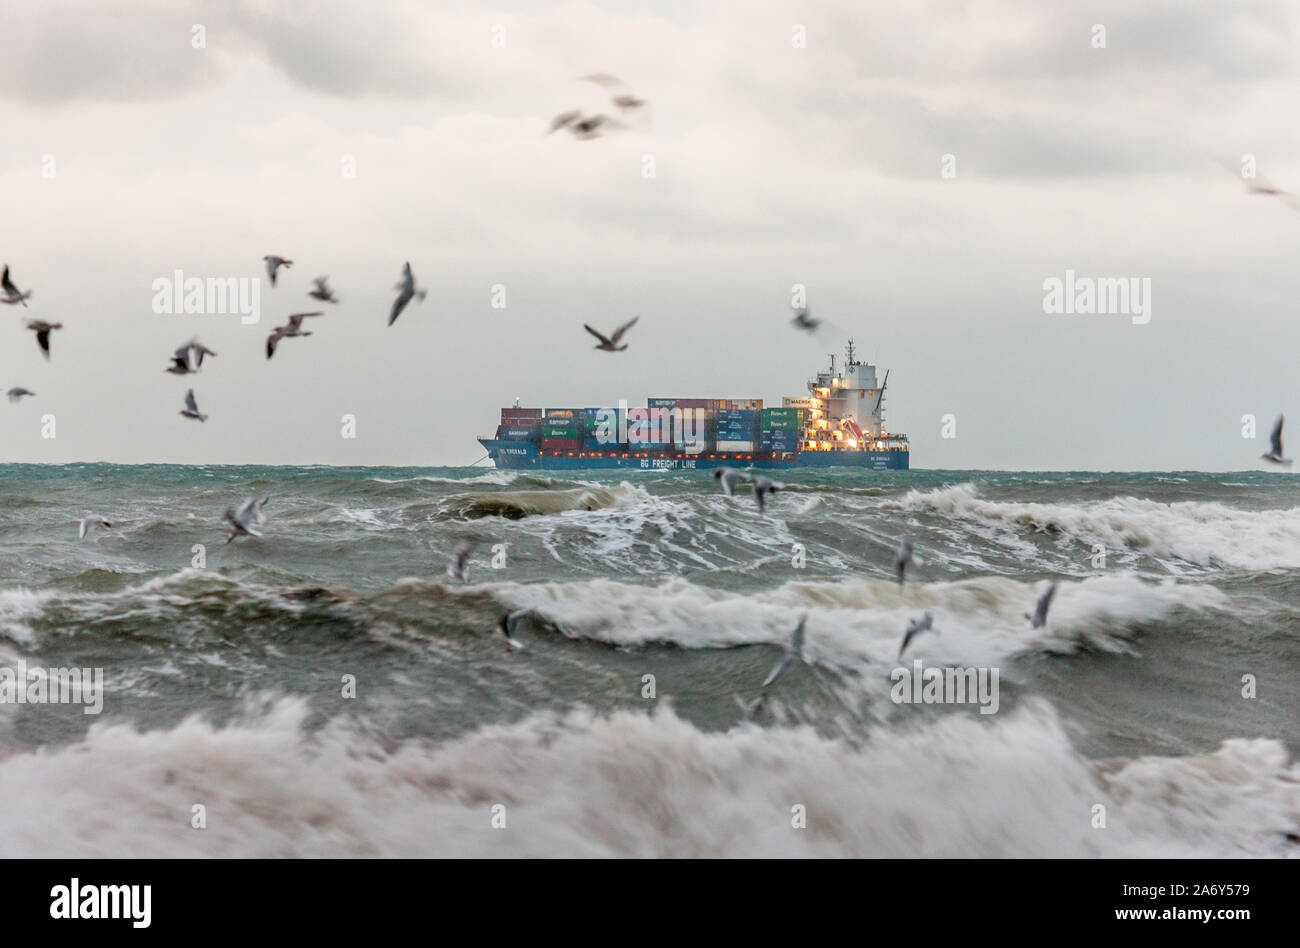
[[[542,454],[530,441],[478,438],[498,468],[506,471],[711,471],[718,467],[790,468],[862,467],[868,471],[906,471],[907,451],[793,451],[783,454],[697,454],[682,451],[588,451]]]

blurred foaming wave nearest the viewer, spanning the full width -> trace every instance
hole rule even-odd
[[[226,727],[96,724],[10,754],[0,856],[1234,857],[1287,854],[1300,827],[1300,766],[1277,741],[1097,767],[1041,702],[861,745],[807,727],[703,732],[667,706],[437,744],[341,723],[308,735],[306,719],[282,700]]]

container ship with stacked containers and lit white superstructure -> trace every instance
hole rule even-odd
[[[907,469],[907,436],[884,424],[889,373],[858,362],[853,339],[844,369],[835,356],[807,382],[807,395],[780,407],[760,398],[650,398],[645,407],[500,410],[478,443],[498,468],[690,471],[718,467],[864,467]]]

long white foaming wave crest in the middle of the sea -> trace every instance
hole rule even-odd
[[[564,635],[619,646],[784,645],[807,612],[809,661],[884,668],[896,665],[909,619],[923,611],[933,614],[939,635],[919,637],[914,654],[991,665],[1030,650],[1122,650],[1143,623],[1162,620],[1179,607],[1199,611],[1227,602],[1213,586],[1115,573],[1063,581],[1048,624],[1028,629],[1024,612],[1032,611],[1040,586],[1000,576],[902,588],[874,579],[792,581],[748,596],[682,579],[659,585],[597,579],[490,589],[506,606],[530,609]]]

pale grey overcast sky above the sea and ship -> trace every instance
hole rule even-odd
[[[34,295],[0,388],[38,395],[0,460],[464,464],[516,395],[779,403],[848,334],[914,467],[1253,468],[1279,411],[1300,443],[1300,211],[1230,170],[1300,191],[1294,4],[113,7],[4,14],[0,259]],[[593,72],[649,114],[547,137],[611,108]],[[153,312],[266,254],[295,265],[257,325]],[[389,328],[406,260],[429,296]],[[1149,278],[1150,321],[1044,313],[1066,269]],[[325,273],[342,302],[268,363]],[[794,283],[840,332],[789,326]],[[48,363],[25,317],[64,323]],[[165,375],[195,334],[218,358]]]

